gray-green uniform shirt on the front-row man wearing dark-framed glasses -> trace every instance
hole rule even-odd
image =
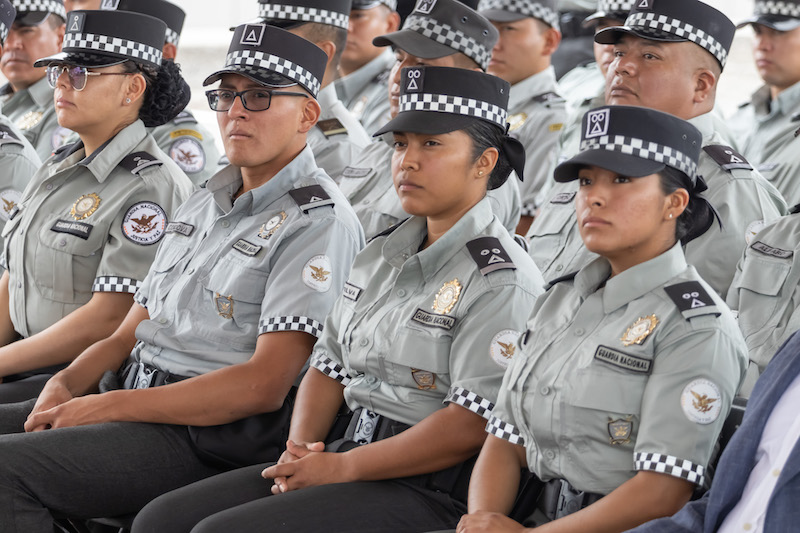
[[[175,213],[136,301],[139,361],[182,376],[243,363],[259,335],[318,337],[364,234],[306,147],[264,185],[231,198],[228,166]]]

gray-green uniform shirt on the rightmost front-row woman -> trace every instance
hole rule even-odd
[[[680,245],[610,274],[598,258],[539,297],[487,432],[578,490],[608,494],[640,470],[699,485],[744,339]]]

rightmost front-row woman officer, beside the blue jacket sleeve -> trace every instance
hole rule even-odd
[[[552,521],[542,531],[624,531],[674,513],[703,484],[744,373],[732,314],[680,245],[714,220],[698,195],[700,133],[613,106],[587,113],[582,138],[555,179],[580,181],[581,237],[600,257],[536,302],[458,532],[521,531],[505,515],[525,466],[541,491],[515,516]]]

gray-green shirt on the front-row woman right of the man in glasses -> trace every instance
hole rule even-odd
[[[353,262],[311,366],[350,408],[416,424],[456,403],[485,418],[542,278],[480,201],[430,247],[414,217]]]

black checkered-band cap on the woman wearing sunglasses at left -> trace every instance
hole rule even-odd
[[[161,66],[167,25],[129,11],[70,11],[61,52],[37,60],[33,66],[72,63],[104,67],[123,61]]]

